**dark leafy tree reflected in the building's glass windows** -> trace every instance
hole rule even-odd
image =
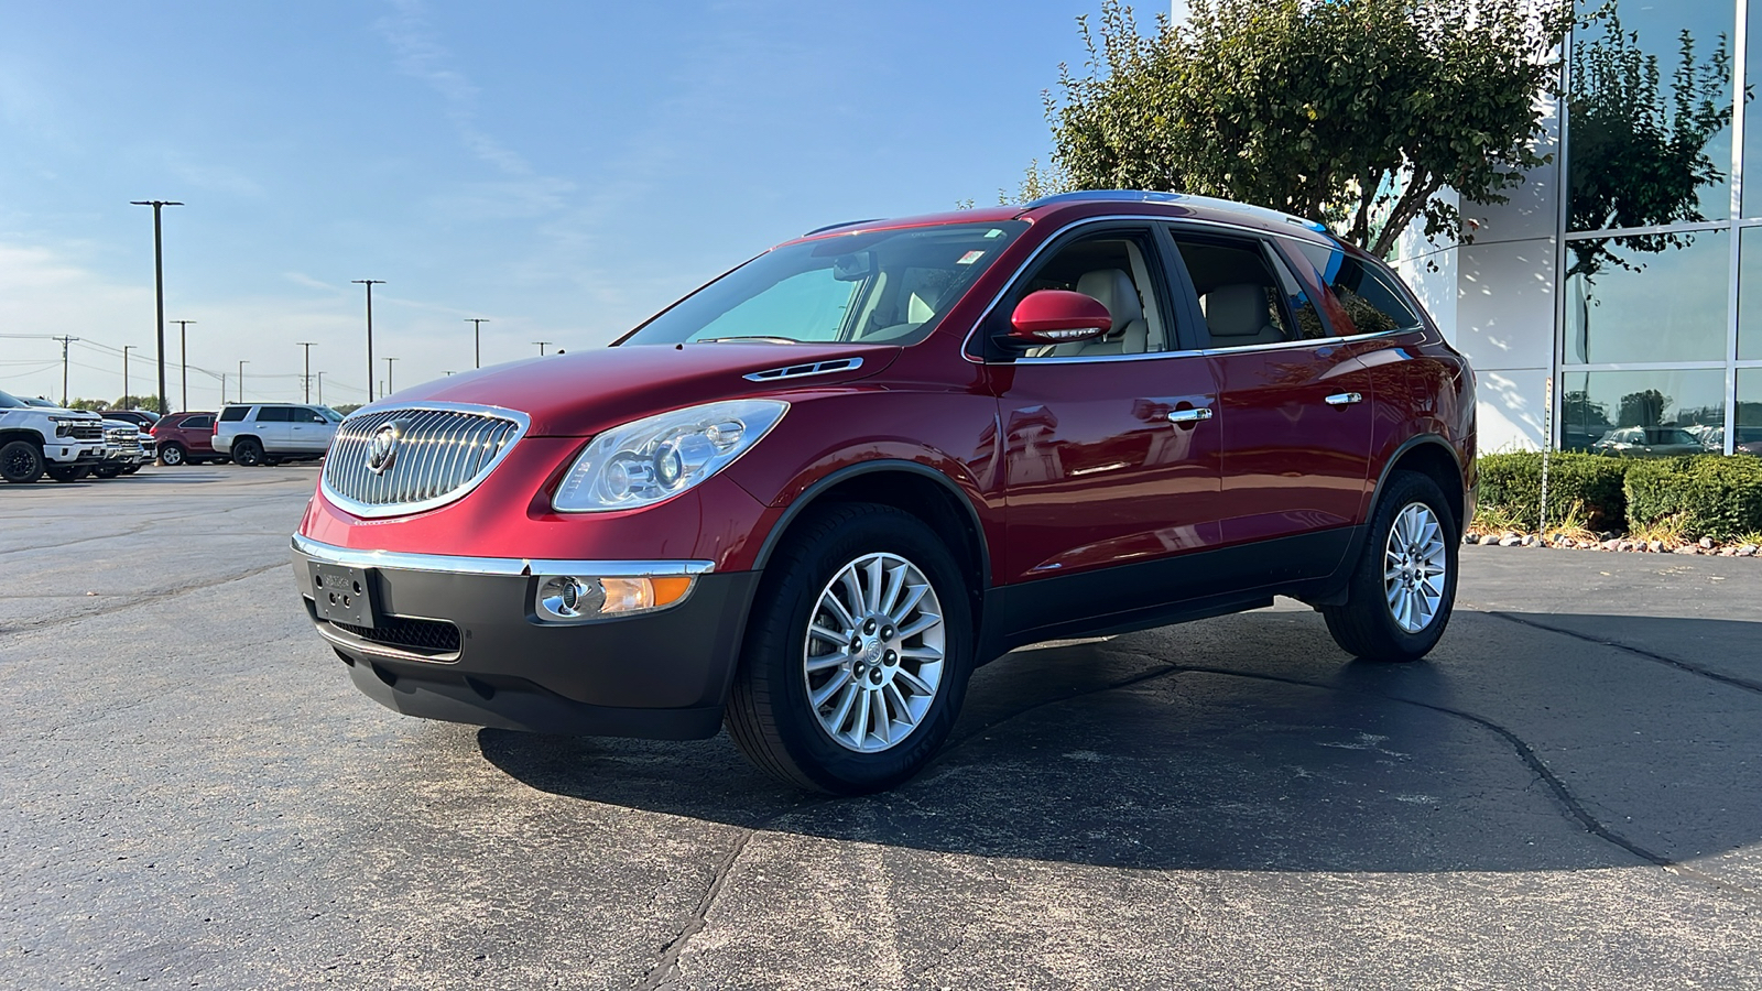
[[[1732,60],[1725,35],[1706,62],[1695,39],[1677,35],[1670,92],[1658,56],[1610,12],[1600,37],[1581,39],[1572,56],[1568,99],[1572,226],[1579,231],[1699,222],[1700,190],[1725,180],[1707,143],[1732,123]],[[1568,275],[1596,275],[1605,265],[1637,270],[1616,254],[1686,247],[1693,235],[1633,235],[1619,242],[1575,240]]]

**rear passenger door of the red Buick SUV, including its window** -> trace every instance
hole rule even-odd
[[[1330,573],[1371,485],[1369,369],[1270,238],[1172,226],[1219,390],[1225,545],[1267,584]]]

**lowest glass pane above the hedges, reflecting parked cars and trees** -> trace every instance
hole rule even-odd
[[[1725,372],[1566,372],[1559,443],[1621,457],[1725,450]]]

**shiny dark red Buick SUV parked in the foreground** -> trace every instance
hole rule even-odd
[[[337,432],[294,536],[400,712],[692,739],[835,794],[930,760],[976,665],[1295,596],[1438,642],[1468,361],[1380,261],[1232,203],[1077,192],[812,231],[611,347]]]

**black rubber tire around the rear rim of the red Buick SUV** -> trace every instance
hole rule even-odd
[[[1388,605],[1385,570],[1388,568],[1388,534],[1396,518],[1413,504],[1425,506],[1436,518],[1443,540],[1443,594],[1436,612],[1417,631],[1404,630]],[[1455,517],[1438,483],[1431,478],[1396,471],[1383,487],[1383,496],[1371,515],[1371,533],[1364,552],[1348,582],[1346,605],[1322,607],[1327,631],[1339,647],[1367,661],[1417,661],[1438,645],[1450,612],[1455,607],[1457,548],[1462,543]]]

